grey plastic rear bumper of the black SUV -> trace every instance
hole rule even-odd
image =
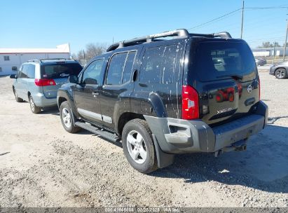
[[[216,128],[200,120],[144,117],[160,149],[166,153],[216,152],[260,132],[267,123],[268,107],[259,102],[255,114]]]

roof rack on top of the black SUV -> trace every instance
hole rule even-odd
[[[217,38],[220,37],[222,39],[231,39],[231,34],[228,32],[219,32],[217,34],[191,34],[188,33],[187,29],[176,29],[172,31],[166,31],[159,34],[152,34],[149,36],[143,36],[135,39],[130,39],[127,41],[120,41],[118,43],[113,43],[109,48],[107,48],[107,52],[116,50],[117,48],[123,48],[125,46],[134,46],[137,44],[145,43],[145,42],[151,42],[151,41],[163,41],[158,38],[165,38],[165,37],[171,37],[171,36],[179,36],[179,37],[185,37],[185,36],[203,36],[208,38]]]

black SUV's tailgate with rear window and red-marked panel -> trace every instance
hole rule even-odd
[[[193,54],[188,79],[198,90],[200,117],[206,123],[245,116],[259,102],[259,77],[247,43],[200,42]]]

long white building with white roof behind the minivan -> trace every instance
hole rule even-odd
[[[0,76],[15,74],[21,64],[28,60],[69,57],[69,43],[56,48],[0,48]]]

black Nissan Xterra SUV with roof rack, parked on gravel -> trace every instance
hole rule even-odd
[[[268,118],[252,51],[227,32],[179,29],[114,43],[69,82],[57,93],[65,130],[122,142],[144,173],[178,153],[245,150]]]

